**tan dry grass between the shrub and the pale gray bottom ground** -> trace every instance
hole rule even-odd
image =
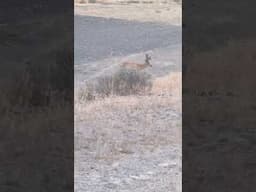
[[[112,161],[136,151],[180,144],[180,115],[181,72],[152,79],[150,91],[142,95],[110,94],[76,101],[75,149],[86,147],[96,158]]]

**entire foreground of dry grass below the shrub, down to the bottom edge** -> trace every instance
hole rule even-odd
[[[76,101],[75,165],[76,191],[180,191],[181,73],[145,95]]]

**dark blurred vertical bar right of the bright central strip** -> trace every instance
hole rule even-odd
[[[255,190],[255,1],[183,1],[183,191]]]

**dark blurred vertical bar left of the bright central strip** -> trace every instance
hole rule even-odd
[[[0,191],[74,191],[73,1],[0,9]]]

